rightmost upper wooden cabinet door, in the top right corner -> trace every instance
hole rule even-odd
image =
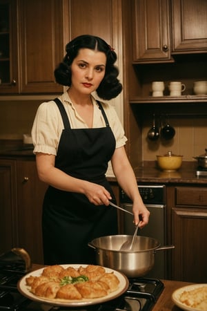
[[[207,1],[172,0],[172,52],[206,52]]]

